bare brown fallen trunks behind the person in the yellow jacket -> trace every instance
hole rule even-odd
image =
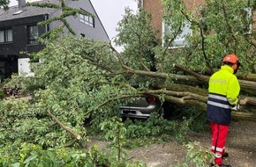
[[[200,75],[189,69],[174,64],[174,67],[184,71],[185,73],[192,76],[178,76],[179,80],[188,81],[191,83],[202,82],[207,84],[209,76]],[[193,78],[192,78],[193,77]],[[238,120],[253,120],[256,121],[256,115],[252,112],[248,113],[248,108],[250,111],[255,111],[256,108],[256,82],[239,80],[241,91],[249,93],[252,97],[243,97],[239,104],[241,105],[240,112],[232,112],[232,118]],[[185,84],[157,84],[156,87],[159,90],[154,91],[143,91],[141,94],[150,94],[152,96],[163,95],[166,101],[171,103],[176,103],[180,105],[193,105],[199,107],[202,111],[207,110],[207,89],[202,89],[199,86],[191,86]]]

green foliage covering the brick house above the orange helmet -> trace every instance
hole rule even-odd
[[[192,35],[186,37],[187,45],[172,49],[171,54],[167,54],[168,62],[205,71],[218,68],[225,54],[237,54],[246,64],[242,70],[252,72],[251,60],[255,62],[256,57],[253,51],[253,10],[251,0],[207,0],[198,8],[195,4],[184,4],[184,1],[164,0],[164,25],[171,27],[168,34],[163,32],[164,44],[182,33],[184,23],[189,23],[192,28]]]

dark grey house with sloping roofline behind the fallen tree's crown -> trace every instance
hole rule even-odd
[[[78,17],[67,18],[67,22],[77,36],[109,42],[109,36],[90,0],[64,2],[69,7],[87,11],[94,16],[79,14]],[[37,3],[59,4],[59,0],[41,0]],[[60,21],[49,25],[37,25],[37,23],[57,17],[60,13],[59,9],[26,6],[26,0],[18,0],[18,5],[10,7],[8,11],[0,9],[1,80],[10,77],[13,73],[30,73],[30,58],[26,53],[40,51],[44,46],[36,38],[62,24]]]

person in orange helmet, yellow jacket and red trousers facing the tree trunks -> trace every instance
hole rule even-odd
[[[225,142],[231,122],[231,110],[239,109],[240,85],[237,80],[237,69],[240,66],[237,55],[228,54],[222,59],[222,67],[209,79],[207,99],[207,120],[212,131],[212,148],[215,162],[212,165],[231,167],[223,164],[222,158],[229,156],[225,152]]]

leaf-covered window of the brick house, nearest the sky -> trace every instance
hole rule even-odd
[[[163,26],[163,34],[166,35],[171,32],[171,27],[169,25],[164,24]],[[175,40],[173,40],[170,47],[184,47],[187,44],[186,37],[192,34],[191,25],[188,23],[184,24],[181,33],[179,33]],[[164,42],[163,42],[164,44]],[[164,44],[166,45],[166,44]]]

